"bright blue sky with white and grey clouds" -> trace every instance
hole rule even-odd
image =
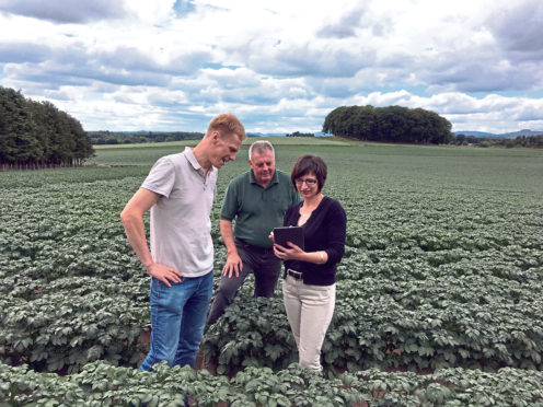
[[[0,85],[88,131],[322,130],[339,106],[543,130],[541,0],[0,0]]]

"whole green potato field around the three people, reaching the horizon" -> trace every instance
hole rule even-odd
[[[206,329],[206,369],[135,369],[149,277],[118,216],[184,144],[103,148],[82,168],[0,172],[0,406],[543,406],[542,150],[270,140],[287,172],[321,155],[347,212],[322,376],[296,364],[280,288],[253,299],[251,280]],[[219,175],[216,282],[246,151]]]

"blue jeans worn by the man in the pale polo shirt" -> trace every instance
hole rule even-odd
[[[171,367],[188,364],[194,369],[212,290],[212,271],[201,277],[183,277],[170,288],[152,279],[151,349],[139,369],[152,370],[153,364],[163,360]]]

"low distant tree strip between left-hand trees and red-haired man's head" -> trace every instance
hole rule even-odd
[[[199,140],[203,132],[194,131],[89,131],[93,144],[131,144],[140,142],[164,142]]]

